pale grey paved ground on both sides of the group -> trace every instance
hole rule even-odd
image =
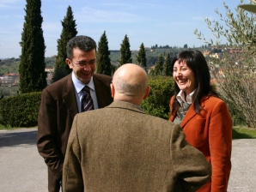
[[[0,130],[0,192],[46,192],[46,164],[35,145],[37,129]],[[229,192],[256,190],[256,139],[233,141]]]

